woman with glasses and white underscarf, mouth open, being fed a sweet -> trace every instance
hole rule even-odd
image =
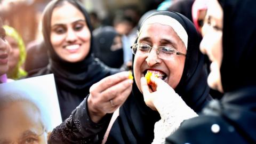
[[[155,18],[157,19],[155,20]],[[166,19],[167,23],[165,23]],[[179,99],[178,101],[182,101],[183,103],[182,106],[173,105],[173,107],[177,107],[177,109],[179,109],[180,107],[186,107],[187,109],[189,109],[189,111],[187,111],[188,113],[195,114],[194,111],[199,112],[201,111],[202,107],[206,105],[206,103],[208,102],[207,98],[210,97],[209,87],[207,87],[206,85],[207,74],[205,73],[204,68],[204,55],[199,52],[199,37],[197,35],[195,27],[193,26],[193,23],[191,23],[186,17],[179,13],[169,11],[155,12],[148,19],[146,19],[146,21],[147,20],[149,23],[142,24],[141,29],[143,30],[140,30],[138,43],[142,42],[141,36],[147,33],[144,31],[144,28],[147,28],[151,25],[159,26],[159,28],[162,28],[161,33],[158,33],[158,28],[151,28],[152,30],[156,30],[157,35],[162,35],[163,31],[166,30],[167,27],[169,28],[169,30],[172,29],[172,34],[170,34],[168,31],[165,31],[165,34],[168,37],[166,39],[174,36],[175,38],[179,39],[178,41],[180,45],[175,45],[175,47],[179,47],[179,50],[175,50],[179,51],[178,54],[180,55],[172,53],[173,55],[169,55],[169,58],[171,58],[172,60],[160,59],[159,57],[164,58],[164,56],[162,55],[164,50],[173,50],[171,47],[167,46],[178,43],[178,41],[176,42],[177,39],[172,39],[175,42],[170,43],[167,42],[167,40],[164,38],[165,36],[161,36],[165,39],[161,40],[163,41],[161,42],[161,45],[165,49],[161,49],[161,55],[159,57],[156,55],[156,50],[152,50],[152,52],[147,56],[148,58],[150,57],[150,60],[144,59],[141,61],[143,64],[139,65],[139,57],[142,58],[143,56],[139,53],[136,53],[134,55],[133,73],[135,81],[132,89],[131,80],[127,80],[128,75],[121,75],[120,73],[104,78],[100,82],[94,84],[90,89],[89,97],[87,97],[81,103],[81,105],[79,105],[79,107],[73,111],[70,118],[68,118],[64,123],[62,123],[53,130],[49,139],[49,143],[101,143],[104,134],[105,136],[108,135],[108,137],[105,137],[105,139],[103,140],[103,142],[106,143],[153,142],[154,125],[157,121],[159,121],[159,119],[161,119],[161,116],[156,109],[153,110],[146,105],[143,95],[141,93],[141,86],[138,86],[140,85],[140,78],[144,77],[144,74],[141,74],[144,70],[145,72],[152,71],[154,74],[158,73],[159,75],[162,75],[159,78],[164,78],[164,81],[169,85],[172,85],[172,82],[177,84],[174,85],[175,91],[183,99]],[[150,24],[150,22],[152,22],[153,24]],[[176,27],[176,24],[179,25],[178,28]],[[175,29],[175,31],[177,32],[175,32],[173,29]],[[178,35],[175,33],[178,33]],[[179,36],[182,38],[179,38]],[[155,35],[151,34],[150,37],[153,38],[155,37]],[[138,48],[138,43],[136,42],[134,44],[133,50]],[[169,44],[166,45],[166,43]],[[137,49],[137,52],[141,51],[142,48],[144,47],[140,46]],[[186,57],[181,53],[186,54]],[[155,62],[153,64],[154,66],[149,66],[152,62]],[[169,65],[167,66],[168,70],[165,69],[164,62],[169,63]],[[174,67],[172,67],[170,64],[172,64]],[[147,66],[148,68],[142,68],[143,70],[138,70],[140,69],[140,67],[144,66]],[[181,70],[181,73],[177,72],[178,70]],[[176,77],[173,77],[174,75],[178,75],[178,80],[176,79]],[[159,79],[159,81],[162,80]],[[104,86],[103,84],[108,86]],[[102,88],[103,86],[104,88]],[[106,87],[108,88],[106,89]],[[121,94],[117,92],[117,88],[122,89],[120,90],[122,91]],[[113,94],[115,96],[113,96]],[[171,95],[169,96],[171,97]],[[184,101],[190,108],[185,104]],[[117,109],[118,107],[119,109]],[[113,117],[110,121],[110,113],[113,113],[114,111],[115,113],[113,114]],[[103,115],[101,115],[102,113]],[[183,117],[189,115],[188,113],[184,114]],[[108,125],[109,128],[106,132]]]

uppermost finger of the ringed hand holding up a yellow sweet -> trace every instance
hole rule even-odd
[[[105,77],[101,79],[98,83],[95,83],[94,85],[91,86],[90,92],[91,91],[97,91],[97,92],[102,92],[109,87],[124,81],[125,79],[129,78],[129,72],[128,71],[123,71],[121,73],[117,73],[115,75],[111,75],[108,77]]]

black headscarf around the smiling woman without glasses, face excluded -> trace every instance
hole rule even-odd
[[[79,11],[81,11],[85,17],[87,26],[89,27],[91,34],[90,51],[87,56],[79,62],[68,62],[59,57],[54,51],[51,41],[51,17],[53,9],[57,6],[61,6],[64,2],[68,2]],[[102,62],[97,61],[92,56],[93,49],[93,36],[92,26],[90,24],[89,15],[84,9],[83,5],[79,1],[75,0],[54,0],[51,1],[44,10],[43,13],[43,36],[45,46],[49,54],[49,65],[38,72],[37,75],[54,74],[55,83],[58,92],[60,110],[62,119],[68,118],[79,103],[83,101],[87,94],[89,94],[90,86],[100,79],[114,74],[118,71],[112,71],[109,67],[103,65]]]

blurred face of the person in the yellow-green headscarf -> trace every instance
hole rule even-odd
[[[9,54],[9,71],[11,72],[18,65],[20,60],[20,49],[16,39],[11,36],[6,36],[7,41],[11,46],[11,52]]]

